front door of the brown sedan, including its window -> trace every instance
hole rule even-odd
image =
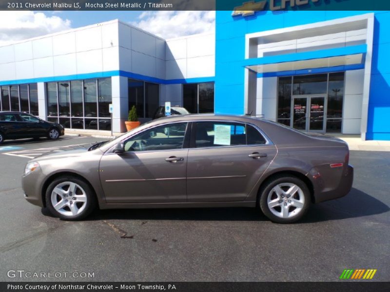
[[[147,129],[123,141],[124,153],[103,155],[99,174],[106,202],[186,201],[187,126]]]

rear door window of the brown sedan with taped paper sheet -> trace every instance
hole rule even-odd
[[[195,131],[195,147],[246,145],[244,124],[228,122],[198,122]]]

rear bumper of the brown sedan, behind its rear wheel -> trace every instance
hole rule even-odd
[[[330,191],[323,191],[318,194],[314,194],[315,203],[334,200],[346,196],[352,188],[353,183],[353,167],[348,165],[343,171],[343,175],[336,188]]]

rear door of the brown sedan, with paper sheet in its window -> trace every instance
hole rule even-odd
[[[187,200],[244,201],[276,155],[252,125],[197,122],[187,163]]]

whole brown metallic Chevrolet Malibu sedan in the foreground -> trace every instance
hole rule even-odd
[[[345,142],[249,116],[181,115],[110,142],[50,152],[22,177],[27,201],[60,219],[108,208],[256,207],[300,219],[351,190]]]

